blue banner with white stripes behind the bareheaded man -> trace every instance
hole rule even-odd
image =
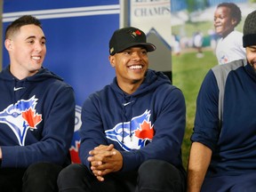
[[[109,84],[115,70],[108,63],[108,41],[119,28],[118,0],[4,0],[3,29],[21,15],[41,20],[47,38],[44,67],[71,84],[76,93],[76,126],[70,148],[72,161],[77,154],[81,107],[92,92]],[[3,68],[9,56],[3,44]]]

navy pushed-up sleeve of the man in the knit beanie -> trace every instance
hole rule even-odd
[[[204,77],[196,100],[196,118],[192,141],[212,150],[219,139],[219,88],[212,70]]]

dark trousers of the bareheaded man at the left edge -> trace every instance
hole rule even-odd
[[[0,168],[2,192],[58,192],[57,178],[62,167],[36,163],[25,168]]]

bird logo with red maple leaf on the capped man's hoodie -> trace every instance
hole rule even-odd
[[[152,141],[155,134],[151,125],[150,110],[146,110],[142,115],[135,116],[131,122],[121,122],[113,129],[105,131],[109,140],[115,140],[126,151],[143,148],[147,141]]]

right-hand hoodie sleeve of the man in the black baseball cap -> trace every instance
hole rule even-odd
[[[137,169],[148,159],[160,159],[182,166],[180,151],[186,126],[184,96],[179,89],[172,87],[161,90],[154,102],[153,140],[144,148],[121,152],[124,158],[123,172]]]

